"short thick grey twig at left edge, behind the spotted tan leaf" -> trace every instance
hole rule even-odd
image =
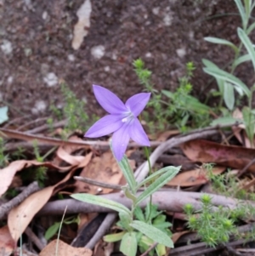
[[[16,207],[20,202],[23,202],[27,196],[32,193],[39,191],[40,188],[38,186],[37,181],[32,182],[30,185],[26,187],[24,191],[22,191],[18,196],[14,197],[9,202],[4,203],[0,206],[0,219],[3,219],[5,214],[7,214],[12,208]]]

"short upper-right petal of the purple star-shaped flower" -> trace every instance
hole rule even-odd
[[[150,100],[150,94],[135,94],[126,102],[127,109],[133,112],[134,117],[138,117],[139,113],[144,110],[145,105]]]

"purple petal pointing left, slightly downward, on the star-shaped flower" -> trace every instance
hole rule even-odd
[[[121,115],[107,115],[95,122],[94,125],[88,129],[88,132],[84,137],[88,138],[98,138],[111,134],[117,129],[121,128],[123,125]]]

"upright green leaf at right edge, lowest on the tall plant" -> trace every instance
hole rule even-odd
[[[242,117],[244,124],[246,126],[246,134],[248,139],[250,140],[250,143],[252,147],[254,146],[254,128],[255,128],[255,117],[254,114],[252,113],[251,109],[248,108],[247,106],[244,106],[242,108]]]

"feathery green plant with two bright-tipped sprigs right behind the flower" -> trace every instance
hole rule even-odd
[[[151,82],[151,71],[144,67],[143,60],[134,60],[133,66],[139,77],[139,82],[144,85],[146,91],[151,93],[151,100],[148,106],[153,110],[154,119],[151,120],[149,111],[144,113],[150,130],[155,127],[163,130],[171,123],[182,132],[185,132],[188,127],[201,128],[211,122],[210,108],[190,95],[192,91],[190,79],[195,70],[192,62],[186,64],[186,75],[179,78],[179,86],[175,92],[168,90],[161,90],[160,92],[156,90]],[[150,118],[146,118],[146,116]]]

